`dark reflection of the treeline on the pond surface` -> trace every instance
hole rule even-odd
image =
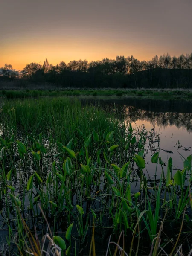
[[[137,120],[150,122],[151,125],[167,127],[175,125],[192,132],[192,100],[157,99],[84,99],[83,102],[102,105],[107,110],[117,112],[128,122]]]

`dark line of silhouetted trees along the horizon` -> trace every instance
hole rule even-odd
[[[57,65],[27,64],[21,72],[12,65],[1,67],[1,81],[51,83],[59,87],[111,88],[192,88],[192,53],[171,57],[156,55],[152,60],[139,61],[133,56],[117,56],[101,61],[78,60]]]

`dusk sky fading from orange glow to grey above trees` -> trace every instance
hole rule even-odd
[[[192,52],[192,0],[0,0],[0,67]]]

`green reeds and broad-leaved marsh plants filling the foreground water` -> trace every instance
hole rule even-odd
[[[189,253],[192,159],[175,170],[153,129],[67,98],[5,100],[0,120],[0,253]]]

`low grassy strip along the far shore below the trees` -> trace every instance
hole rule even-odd
[[[148,98],[166,98],[166,99],[192,99],[192,90],[155,90],[155,89],[137,89],[137,90],[76,90],[76,89],[66,89],[66,90],[2,90],[0,91],[1,97],[6,97],[7,99],[17,99],[17,98],[36,98],[36,97],[56,97],[56,96],[145,96]]]

